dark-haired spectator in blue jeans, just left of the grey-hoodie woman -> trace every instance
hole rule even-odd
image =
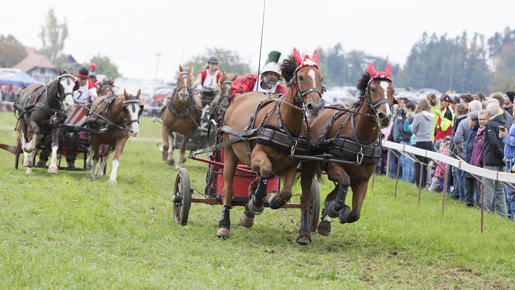
[[[397,123],[399,126],[399,139],[400,143],[404,145],[411,145],[411,131],[405,130],[404,123],[413,123],[413,117],[415,116],[415,103],[406,102],[405,108],[399,108]],[[413,168],[413,160],[408,156],[401,155],[401,167],[402,167],[402,180],[415,183],[415,174]]]

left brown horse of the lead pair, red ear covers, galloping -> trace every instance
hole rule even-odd
[[[303,121],[307,118],[317,118],[322,109],[322,75],[318,70],[318,53],[315,51],[313,57],[306,55],[301,58],[294,49],[293,55],[283,61],[281,70],[284,79],[290,79],[289,88],[284,96],[276,99],[271,94],[263,95],[260,92],[239,94],[229,105],[222,121],[222,139],[228,141],[235,138],[234,140],[239,141],[225,146],[225,185],[222,190],[224,207],[218,223],[218,237],[229,238],[230,204],[238,162],[243,162],[261,175],[249,186],[251,197],[246,206],[246,213],[241,218],[242,225],[252,226],[254,215],[263,212],[265,198],[272,209],[280,208],[291,198],[291,188],[299,164],[297,158],[290,158],[298,149],[298,138],[292,134],[300,134]],[[272,144],[267,143],[266,138],[262,138],[258,128],[259,132],[274,132],[286,136],[286,143],[279,147],[271,147]],[[270,192],[267,195],[268,179],[276,175],[280,176],[283,189],[280,194]]]

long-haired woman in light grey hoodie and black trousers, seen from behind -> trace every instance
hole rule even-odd
[[[431,105],[429,101],[422,99],[419,101],[415,109],[415,117],[411,123],[411,133],[415,135],[415,147],[423,150],[431,150],[433,147],[433,118],[434,114],[431,112]],[[417,156],[423,164],[429,163],[429,158]],[[422,174],[422,185],[425,186],[427,179],[427,166],[420,164],[415,165],[415,184],[419,186],[420,174]]]

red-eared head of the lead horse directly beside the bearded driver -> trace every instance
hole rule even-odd
[[[293,93],[300,102],[307,118],[315,119],[322,110],[322,87],[323,76],[318,70],[318,52],[315,50],[313,56],[305,55],[300,57],[294,48],[293,57],[285,59],[281,66],[283,72],[285,67],[294,65],[295,71],[288,86],[293,86]],[[283,76],[286,78],[286,75]],[[288,79],[288,78],[286,78]]]

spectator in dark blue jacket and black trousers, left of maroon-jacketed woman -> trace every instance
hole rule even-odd
[[[474,101],[481,105],[479,101]],[[473,102],[470,103],[470,106],[472,107]],[[477,118],[477,115],[479,114],[479,111],[470,111],[469,117],[464,120],[462,123],[467,122],[469,120],[469,138],[467,139],[467,142],[465,146],[463,147],[463,151],[465,152],[465,162],[468,164],[472,164],[472,150],[474,147],[474,139],[477,135],[477,130],[479,129],[479,121]],[[461,128],[461,126],[460,126]],[[465,140],[465,138],[464,138]],[[465,186],[465,204],[468,207],[474,206],[474,196],[476,194],[476,188],[479,187],[479,183],[470,175],[467,171],[463,172],[463,183]],[[480,191],[477,191],[480,193]]]

